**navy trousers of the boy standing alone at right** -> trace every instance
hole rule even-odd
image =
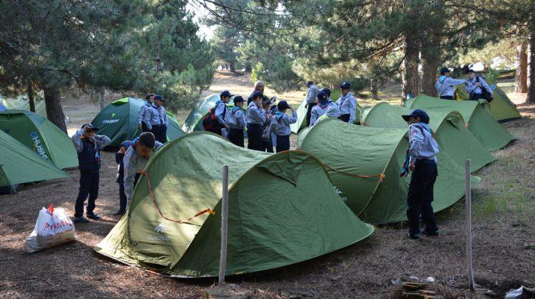
[[[407,194],[409,234],[418,235],[420,233],[420,216],[424,221],[425,230],[434,233],[439,230],[431,206],[434,182],[438,175],[437,164],[433,160],[420,159],[414,166]]]

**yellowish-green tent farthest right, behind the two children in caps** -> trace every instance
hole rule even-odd
[[[519,110],[516,110],[516,105],[504,93],[504,90],[496,85],[492,80],[486,80],[494,91],[491,103],[484,104],[488,107],[492,117],[499,122],[506,122],[509,120],[517,120],[521,117]],[[464,84],[458,85],[455,89],[455,98],[457,100],[469,100],[470,96],[465,89]]]

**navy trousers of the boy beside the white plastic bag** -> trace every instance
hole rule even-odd
[[[90,170],[80,172],[80,189],[78,191],[78,198],[74,205],[74,217],[78,218],[83,216],[83,203],[89,196],[87,202],[87,213],[93,213],[95,209],[95,201],[98,197],[98,182],[100,180],[100,174],[98,170]]]

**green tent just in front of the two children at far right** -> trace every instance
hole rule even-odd
[[[494,120],[489,112],[478,101],[441,100],[428,95],[418,95],[407,100],[405,107],[432,111],[459,111],[468,130],[481,142],[487,150],[499,150],[514,140],[514,136]]]

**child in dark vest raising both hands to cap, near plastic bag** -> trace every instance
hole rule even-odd
[[[96,135],[98,127],[91,124],[82,125],[71,140],[76,152],[78,152],[78,169],[80,169],[80,189],[76,204],[74,206],[74,223],[88,223],[83,217],[83,203],[89,196],[86,216],[89,219],[101,219],[101,216],[94,213],[95,201],[98,197],[98,182],[101,169],[101,150],[106,147],[111,140],[104,135]]]

